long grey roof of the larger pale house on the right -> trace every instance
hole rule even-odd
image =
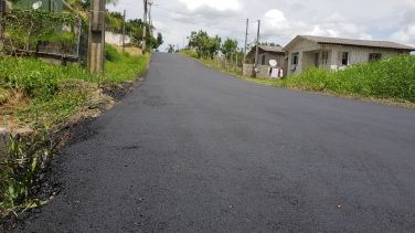
[[[291,42],[285,46],[285,49],[289,50],[294,44],[295,41],[298,39],[305,39],[318,44],[337,44],[337,45],[347,45],[347,46],[364,46],[364,47],[382,47],[382,49],[394,49],[394,50],[407,50],[407,51],[415,51],[415,47],[398,44],[395,42],[389,41],[368,41],[368,40],[352,40],[352,39],[341,39],[341,38],[324,38],[324,36],[316,36],[316,35],[297,35]]]

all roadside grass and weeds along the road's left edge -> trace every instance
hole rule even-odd
[[[105,75],[81,66],[60,66],[35,59],[0,57],[0,110],[13,113],[2,118],[11,131],[9,148],[0,155],[0,212],[41,206],[36,198],[40,176],[50,165],[55,145],[51,129],[65,118],[85,109],[105,105],[108,99],[94,99],[103,88],[111,88],[143,74],[150,61],[138,47],[106,44]],[[13,134],[12,127],[34,130],[32,137]],[[54,128],[54,130],[58,130]],[[44,201],[44,200],[43,200]],[[17,209],[15,209],[17,208]]]

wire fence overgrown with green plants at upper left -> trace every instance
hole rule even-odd
[[[76,13],[0,12],[0,50],[10,56],[49,54],[86,61],[88,28]]]

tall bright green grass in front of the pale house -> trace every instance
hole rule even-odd
[[[308,67],[280,85],[415,103],[415,56],[395,55],[338,72]]]

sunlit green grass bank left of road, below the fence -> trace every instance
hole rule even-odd
[[[98,88],[103,80],[115,84],[141,75],[150,56],[131,56],[111,51],[111,61],[105,61],[105,76],[77,66],[53,65],[35,59],[0,57],[0,103],[24,99],[19,118],[47,119],[54,124],[85,106],[92,88]],[[94,84],[94,85],[89,85]]]

